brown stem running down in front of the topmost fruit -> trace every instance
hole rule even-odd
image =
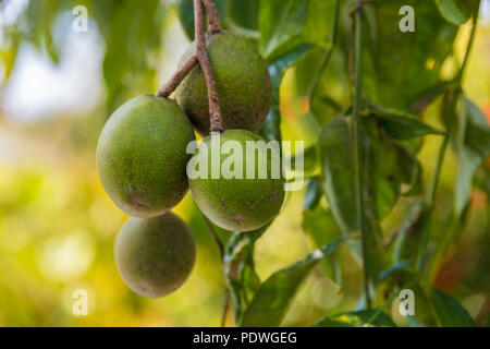
[[[222,132],[222,118],[220,100],[218,98],[218,91],[216,87],[215,75],[209,62],[208,51],[206,49],[206,38],[204,31],[204,8],[201,0],[194,0],[194,27],[196,37],[196,56],[199,60],[199,65],[203,69],[206,86],[208,87],[209,99],[209,122],[211,124],[210,132]]]

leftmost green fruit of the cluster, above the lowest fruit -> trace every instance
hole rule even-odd
[[[97,169],[111,200],[135,217],[170,210],[187,191],[187,143],[195,140],[182,109],[142,95],[115,110],[97,144]]]

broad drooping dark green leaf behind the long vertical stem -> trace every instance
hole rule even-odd
[[[356,231],[353,148],[348,118],[328,121],[320,134],[322,188],[344,232]],[[417,171],[414,157],[379,131],[376,117],[363,118],[362,144],[367,208],[375,219],[385,217],[397,202],[401,184],[411,184]]]

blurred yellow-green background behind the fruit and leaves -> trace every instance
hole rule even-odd
[[[87,9],[88,26],[77,33],[72,23],[79,4]],[[182,11],[181,16],[192,15]],[[253,19],[240,20],[233,7],[226,11],[252,29],[256,25]],[[188,46],[177,12],[173,1],[1,1],[0,326],[219,325],[224,296],[219,252],[189,195],[174,212],[196,238],[196,266],[173,294],[144,299],[115,269],[113,241],[127,216],[105,194],[95,168],[98,134],[110,112],[131,97],[154,93]],[[466,24],[460,32],[456,56],[463,56],[469,29]],[[464,89],[490,122],[489,62],[490,1],[483,0]],[[446,73],[451,69],[448,64]],[[438,125],[434,109],[428,109],[426,120]],[[281,86],[284,140],[313,142],[308,111],[309,100],[297,92],[291,69]],[[419,155],[426,179],[439,144],[440,137],[426,137]],[[437,195],[441,227],[451,210],[454,178],[450,155]],[[261,278],[311,251],[301,228],[302,202],[303,192],[289,195],[282,214],[257,242]],[[393,216],[403,209],[402,203]],[[434,278],[438,289],[458,298],[476,318],[490,311],[489,216],[486,192],[474,190],[466,228]],[[225,232],[220,237],[228,238]],[[343,287],[316,270],[285,325],[356,306],[360,263],[347,252],[342,257]],[[86,316],[72,312],[76,289],[87,291]]]

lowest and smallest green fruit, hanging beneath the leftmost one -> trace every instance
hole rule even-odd
[[[114,244],[118,270],[136,293],[158,298],[187,279],[196,260],[194,238],[185,222],[169,212],[154,218],[130,218]]]

